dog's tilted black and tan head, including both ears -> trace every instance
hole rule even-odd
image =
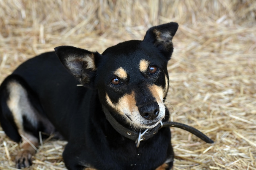
[[[102,55],[71,46],[55,51],[83,86],[98,89],[110,112],[135,128],[153,128],[165,117],[167,62],[177,29],[175,22],[151,27],[143,41],[119,43]]]

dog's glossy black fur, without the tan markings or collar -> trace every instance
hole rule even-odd
[[[68,141],[63,153],[68,169],[154,170],[167,160],[162,169],[171,169],[173,149],[169,128],[160,129],[136,148],[135,141],[122,136],[110,125],[102,106],[124,127],[135,131],[146,129],[132,127],[124,121],[124,115],[117,113],[106,101],[106,93],[114,105],[124,95],[135,93],[134,107],[138,107],[140,112],[147,107],[153,108],[148,109],[150,111],[157,108],[156,98],[145,87],[156,85],[164,89],[168,86],[165,81],[165,76],[168,78],[167,62],[173,52],[171,39],[177,29],[178,24],[173,22],[152,27],[143,41],[119,43],[102,54],[70,46],[57,47],[57,55],[54,52],[41,54],[24,62],[13,72],[12,79],[26,89],[31,105],[53,124],[55,129],[52,132],[58,131]],[[143,75],[138,67],[142,59],[150,61],[150,66],[157,66],[157,72]],[[118,77],[121,83],[113,85],[111,80],[116,77],[113,72],[120,67],[124,68],[128,77],[126,80]],[[4,80],[0,87],[0,122],[7,136],[18,142],[21,138],[6,104],[8,81],[10,78]],[[84,87],[78,87],[78,84]],[[146,112],[150,112],[148,110]],[[166,109],[163,121],[168,119]],[[27,117],[23,117],[23,123],[25,131],[32,132],[36,137],[35,133],[45,131],[47,126],[41,123],[34,132]]]

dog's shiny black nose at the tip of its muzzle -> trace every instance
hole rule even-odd
[[[148,120],[154,120],[159,114],[159,106],[157,103],[152,103],[139,108],[140,115]]]

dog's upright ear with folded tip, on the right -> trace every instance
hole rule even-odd
[[[148,29],[143,42],[153,43],[169,60],[173,52],[172,39],[178,30],[178,23],[170,22]]]

